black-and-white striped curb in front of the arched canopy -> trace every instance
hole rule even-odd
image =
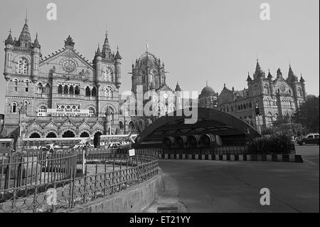
[[[159,154],[159,159],[217,160],[232,162],[304,162],[300,154]]]

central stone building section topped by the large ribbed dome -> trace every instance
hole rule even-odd
[[[140,58],[135,60],[135,63],[132,63],[130,74],[132,75],[132,94],[127,96],[127,100],[123,102],[125,105],[122,105],[122,115],[119,122],[120,125],[124,125],[120,128],[125,127],[126,132],[139,133],[154,122],[159,115],[165,115],[168,112],[173,112],[176,108],[182,107],[180,85],[177,83],[175,90],[166,85],[164,63],[161,63],[161,60],[156,58],[148,49]],[[139,87],[142,89],[139,90]],[[141,112],[138,108],[139,102],[142,102],[144,107],[146,102],[149,101],[142,100],[149,91],[153,91],[158,96],[156,116],[146,116],[145,112]]]

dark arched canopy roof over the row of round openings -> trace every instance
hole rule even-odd
[[[186,117],[184,114],[177,116],[177,111],[175,111],[171,116],[160,117],[149,127],[146,127],[137,137],[136,146],[139,147],[152,143],[160,144],[164,137],[191,136],[207,133],[219,135],[231,142],[238,139],[260,137],[260,133],[254,127],[238,117],[211,108],[198,107],[194,109],[194,112],[198,112],[196,123],[186,124],[185,119],[191,117]],[[186,111],[183,110],[184,112]]]

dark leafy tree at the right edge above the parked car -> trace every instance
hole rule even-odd
[[[319,96],[309,95],[293,117],[294,122],[302,124],[309,132],[319,132]]]

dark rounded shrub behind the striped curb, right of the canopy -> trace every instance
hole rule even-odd
[[[248,144],[250,154],[290,154],[292,141],[289,134],[274,132],[253,139]]]

